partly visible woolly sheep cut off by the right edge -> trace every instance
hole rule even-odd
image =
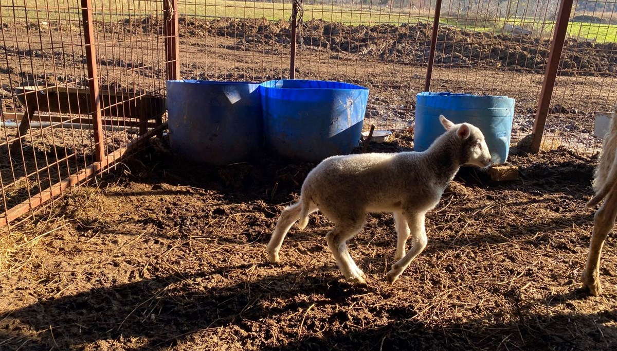
[[[608,132],[604,137],[602,156],[595,170],[595,195],[587,203],[587,208],[593,208],[606,198],[594,216],[594,230],[589,244],[587,263],[582,273],[582,285],[592,295],[602,293],[600,285],[600,253],[608,233],[615,226],[617,217],[617,104],[613,108]]]

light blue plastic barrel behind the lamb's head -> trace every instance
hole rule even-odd
[[[424,91],[416,99],[413,150],[428,149],[445,132],[439,122],[442,114],[454,123],[466,122],[478,127],[486,138],[493,163],[507,161],[514,118],[513,98]]]

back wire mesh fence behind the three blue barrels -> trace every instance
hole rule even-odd
[[[181,74],[357,83],[371,89],[365,128],[413,127],[436,1],[297,2],[295,49],[292,6],[292,1],[180,2]],[[532,133],[559,2],[450,0],[440,9],[431,90],[508,95],[516,99],[513,143]],[[610,109],[615,99],[612,11],[608,1],[574,4],[542,148],[598,150],[594,112]],[[292,56],[294,72],[288,68]]]

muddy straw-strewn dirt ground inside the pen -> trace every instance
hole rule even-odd
[[[410,150],[410,135],[368,151]],[[617,347],[611,238],[605,294],[579,289],[597,157],[510,154],[511,182],[463,169],[428,214],[429,244],[393,285],[390,214],[350,240],[368,276],[341,278],[321,214],[265,244],[313,164],[210,167],[155,142],[1,236],[3,350],[609,350]]]

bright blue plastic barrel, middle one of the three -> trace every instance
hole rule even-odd
[[[318,162],[360,143],[368,88],[321,80],[270,80],[261,86],[265,145]]]

